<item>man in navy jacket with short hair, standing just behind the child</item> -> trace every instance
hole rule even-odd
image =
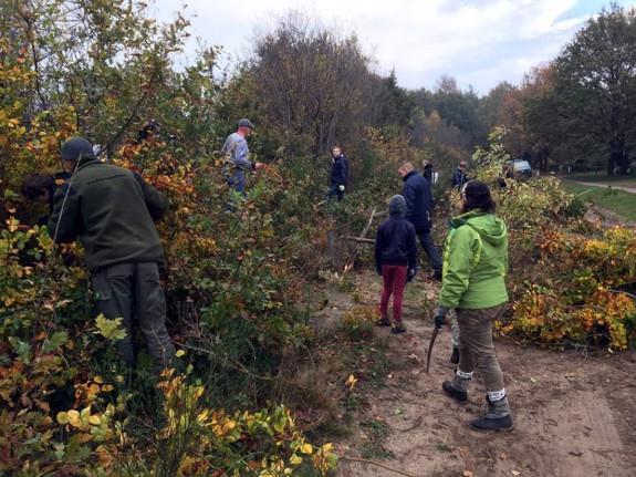
[[[430,219],[432,211],[430,185],[421,174],[414,169],[410,163],[404,163],[398,173],[404,179],[402,195],[406,200],[406,219],[415,227],[419,242],[428,256],[434,270],[432,278],[441,281],[441,258],[430,236],[432,225]]]

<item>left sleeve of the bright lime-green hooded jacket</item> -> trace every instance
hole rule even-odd
[[[444,253],[444,280],[438,304],[457,308],[468,289],[472,269],[479,261],[481,241],[470,227],[451,230]]]

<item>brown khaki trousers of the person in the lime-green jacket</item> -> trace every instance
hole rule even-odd
[[[492,320],[501,318],[505,303],[481,310],[457,309],[459,324],[459,371],[477,370],[487,392],[503,390],[503,375],[494,354]]]

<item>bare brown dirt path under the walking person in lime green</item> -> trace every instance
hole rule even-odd
[[[374,304],[379,280],[368,272],[355,280],[358,302]],[[383,452],[367,457],[413,476],[636,476],[636,353],[586,356],[500,340],[498,355],[515,427],[478,433],[467,424],[483,408],[479,379],[466,404],[455,403],[440,388],[453,367],[448,362],[448,330],[438,336],[430,374],[424,371],[432,325],[421,310],[436,287],[423,280],[408,287],[407,333],[390,335],[387,329],[376,329],[389,343],[386,385],[361,387],[364,405],[353,434],[337,443],[338,454],[363,458],[375,426],[385,429]],[[353,304],[351,293],[333,292],[330,301],[337,303],[336,314]],[[337,473],[397,475],[346,459]]]

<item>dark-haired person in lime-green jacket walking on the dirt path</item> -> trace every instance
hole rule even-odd
[[[463,402],[468,385],[477,370],[481,373],[488,411],[471,422],[477,429],[512,427],[503,375],[494,353],[491,323],[501,318],[508,302],[508,231],[494,216],[494,201],[488,186],[468,182],[461,189],[462,214],[450,222],[444,258],[444,277],[436,325],[456,309],[459,324],[459,365],[452,381],[445,381],[444,391]]]

